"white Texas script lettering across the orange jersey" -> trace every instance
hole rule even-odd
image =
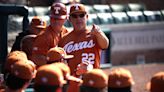
[[[78,50],[85,49],[85,48],[92,48],[94,46],[95,46],[95,43],[93,43],[93,40],[83,41],[83,42],[79,42],[79,43],[74,43],[74,41],[70,41],[69,43],[67,43],[64,46],[64,50],[67,53],[71,53],[73,51],[78,51]]]

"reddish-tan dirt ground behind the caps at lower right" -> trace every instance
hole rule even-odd
[[[149,92],[145,89],[146,84],[155,73],[164,71],[164,63],[160,64],[141,64],[141,65],[126,65],[126,66],[113,66],[111,68],[126,68],[132,73],[135,85],[132,87],[132,92]],[[104,69],[109,74],[110,69]]]

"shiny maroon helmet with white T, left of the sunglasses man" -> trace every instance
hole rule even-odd
[[[66,19],[67,17],[66,6],[62,3],[53,3],[50,9],[50,17],[56,19]]]

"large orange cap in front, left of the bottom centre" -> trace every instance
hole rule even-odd
[[[62,87],[65,83],[62,71],[51,64],[40,66],[34,80],[34,85],[56,85]]]

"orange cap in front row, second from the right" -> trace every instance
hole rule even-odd
[[[123,88],[134,84],[131,72],[124,68],[111,70],[108,76],[108,87]]]

